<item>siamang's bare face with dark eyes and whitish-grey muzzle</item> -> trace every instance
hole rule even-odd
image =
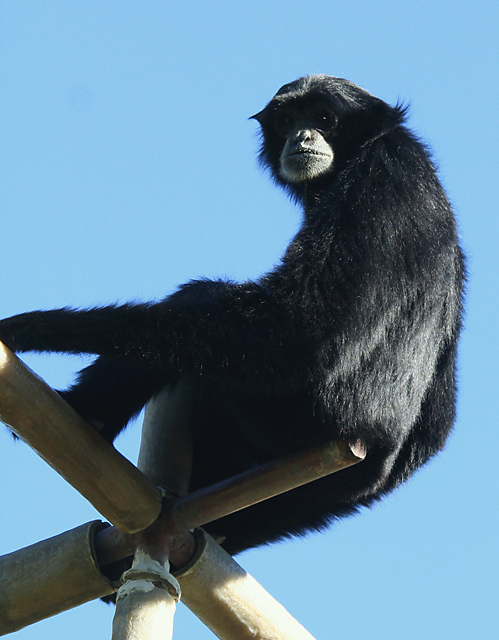
[[[328,142],[335,125],[326,108],[312,113],[282,109],[275,115],[274,126],[284,140],[279,158],[279,175],[286,182],[307,182],[333,167],[334,151]]]

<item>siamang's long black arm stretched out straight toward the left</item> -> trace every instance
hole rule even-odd
[[[157,304],[24,313],[0,321],[0,340],[16,352],[92,353],[167,377],[204,370],[268,383],[276,375],[289,381],[298,362],[303,371],[300,341],[272,294],[258,285],[217,284],[193,283]]]

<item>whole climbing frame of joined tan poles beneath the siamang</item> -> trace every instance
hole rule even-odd
[[[133,555],[113,640],[171,638],[180,598],[225,640],[313,640],[213,539],[189,531],[356,464],[362,447],[333,442],[187,494],[186,393],[180,385],[148,404],[137,468],[0,343],[0,419],[113,525],[87,523],[0,557],[0,635],[115,592],[115,563]]]

